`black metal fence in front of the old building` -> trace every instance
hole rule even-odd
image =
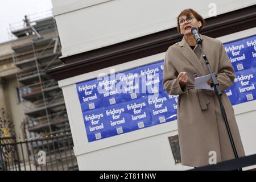
[[[69,133],[20,140],[0,138],[0,171],[78,170]]]

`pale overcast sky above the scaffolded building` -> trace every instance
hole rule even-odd
[[[0,43],[9,40],[9,23],[20,22],[22,25],[24,15],[31,15],[31,18],[47,16],[51,9],[51,0],[2,0],[0,6]]]

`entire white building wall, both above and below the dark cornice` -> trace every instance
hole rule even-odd
[[[217,4],[217,14],[254,5],[255,0],[237,1],[156,1],[52,0],[59,30],[63,57],[109,46],[176,26],[176,16],[191,7],[208,18],[209,3]],[[94,3],[96,5],[94,5]],[[223,43],[253,35],[256,28],[219,38]],[[164,59],[164,52],[143,59],[115,65],[116,72]],[[59,81],[63,89],[74,151],[80,170],[184,170],[175,165],[168,137],[177,134],[177,122],[168,122],[146,129],[88,143],[76,82],[110,73],[110,68]],[[246,155],[256,153],[256,101],[234,106]]]

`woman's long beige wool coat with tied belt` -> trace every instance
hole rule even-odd
[[[217,73],[222,103],[237,148],[238,156],[245,156],[234,110],[225,93],[234,82],[234,69],[222,43],[208,36],[200,35],[202,47],[214,73]],[[187,72],[188,84],[181,90],[177,76]],[[195,77],[208,75],[209,71],[200,48],[193,50],[185,37],[169,47],[164,59],[163,88],[170,95],[179,95],[177,104],[177,125],[180,143],[181,163],[184,166],[201,167],[209,165],[209,158],[216,152],[217,163],[234,159],[232,145],[220,111],[217,96],[212,90],[195,89]],[[212,161],[212,158],[210,159]]]

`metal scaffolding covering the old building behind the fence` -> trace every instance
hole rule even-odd
[[[23,23],[10,24],[13,62],[20,100],[26,114],[26,135],[46,136],[69,132],[67,111],[57,81],[46,75],[46,69],[63,64],[56,22],[26,16]]]

